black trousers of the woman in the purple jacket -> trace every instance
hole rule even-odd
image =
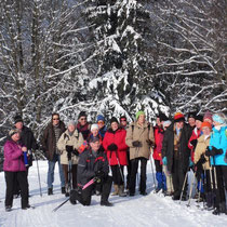
[[[18,182],[21,196],[22,196],[22,208],[28,205],[28,181],[26,171],[21,172],[4,172],[4,178],[6,183],[6,192],[5,192],[5,206],[13,205],[13,192],[14,185]]]

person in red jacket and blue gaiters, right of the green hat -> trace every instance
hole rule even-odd
[[[164,173],[162,172],[162,141],[164,136],[164,130],[162,126],[163,121],[168,120],[168,117],[164,114],[160,114],[156,119],[156,125],[153,126],[153,135],[155,135],[155,146],[152,158],[155,160],[156,165],[156,179],[158,182],[158,187],[156,188],[156,192],[159,192],[161,189],[163,192],[166,191],[166,178]]]

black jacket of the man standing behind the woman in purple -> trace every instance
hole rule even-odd
[[[27,149],[30,152],[32,150],[38,149],[37,141],[36,141],[35,136],[34,136],[34,133],[27,126],[23,126],[19,142],[22,144],[24,144],[24,146],[27,147]],[[29,153],[29,156],[28,156],[28,164],[29,164],[29,166],[32,165],[32,153]]]

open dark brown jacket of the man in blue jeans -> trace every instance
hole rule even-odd
[[[59,135],[62,135],[66,131],[65,124],[62,121],[59,121]],[[42,137],[42,148],[48,160],[53,161],[54,155],[56,153],[56,138],[52,122],[44,130]]]

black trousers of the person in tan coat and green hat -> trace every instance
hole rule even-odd
[[[136,174],[138,170],[138,161],[141,161],[141,182],[139,191],[144,193],[146,191],[147,181],[147,159],[136,158],[131,160],[131,179],[130,179],[130,193],[135,193]]]

